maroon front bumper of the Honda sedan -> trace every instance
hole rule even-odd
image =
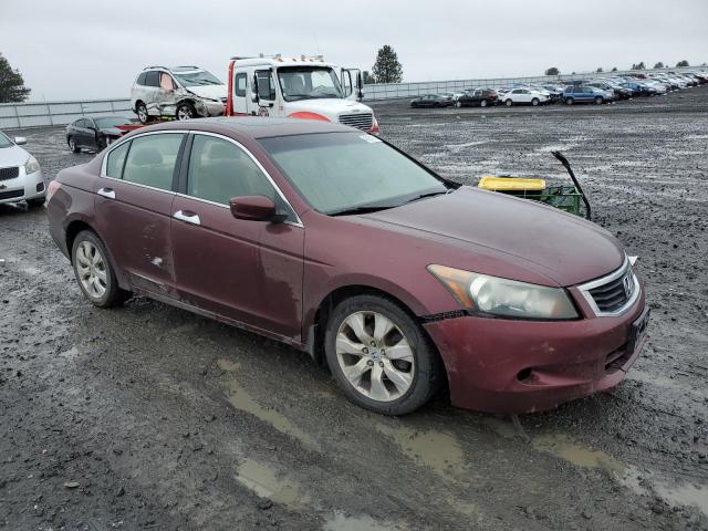
[[[442,356],[454,405],[533,413],[622,382],[646,341],[642,335],[628,346],[632,323],[644,308],[643,291],[616,317],[539,322],[464,316],[424,326]]]

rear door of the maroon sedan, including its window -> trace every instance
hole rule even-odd
[[[96,181],[97,230],[132,287],[174,294],[170,217],[185,133],[146,133],[112,148]]]

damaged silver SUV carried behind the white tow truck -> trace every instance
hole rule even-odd
[[[143,124],[153,118],[220,116],[227,86],[198,66],[148,66],[131,90],[133,112]]]

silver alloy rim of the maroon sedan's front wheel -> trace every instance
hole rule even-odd
[[[337,331],[335,351],[344,377],[367,398],[393,402],[413,385],[416,366],[408,340],[381,313],[348,315]]]

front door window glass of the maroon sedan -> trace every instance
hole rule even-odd
[[[206,135],[195,135],[191,145],[187,194],[219,205],[239,196],[267,196],[277,201],[270,180],[243,149]]]

